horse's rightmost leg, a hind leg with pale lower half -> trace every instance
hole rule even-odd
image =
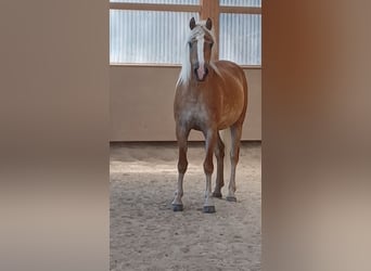
[[[228,185],[227,201],[236,202],[235,192],[235,168],[239,163],[240,143],[242,134],[242,124],[235,124],[231,127],[231,176]]]

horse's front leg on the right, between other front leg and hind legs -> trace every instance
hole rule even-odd
[[[212,193],[212,175],[214,171],[213,165],[213,154],[215,150],[215,144],[217,142],[217,130],[209,130],[206,133],[206,157],[204,162],[204,171],[206,175],[206,190],[205,190],[205,203],[204,203],[204,212],[215,212],[215,205],[213,201],[213,193]]]

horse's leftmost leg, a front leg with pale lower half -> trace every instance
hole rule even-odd
[[[184,173],[188,167],[187,160],[187,139],[189,134],[189,130],[186,130],[182,127],[177,127],[177,140],[179,147],[179,159],[178,159],[178,189],[175,193],[175,198],[171,203],[174,211],[183,210],[183,203],[181,202],[181,197],[183,196],[183,179]]]

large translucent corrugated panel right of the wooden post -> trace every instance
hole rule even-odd
[[[261,15],[220,14],[219,59],[261,65]]]

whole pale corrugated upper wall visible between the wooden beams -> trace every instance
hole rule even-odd
[[[199,4],[199,0],[115,2]],[[221,0],[223,5],[260,7],[260,0]],[[189,20],[197,13],[110,11],[111,63],[180,64]],[[261,63],[261,15],[220,14],[219,56],[241,65]]]

